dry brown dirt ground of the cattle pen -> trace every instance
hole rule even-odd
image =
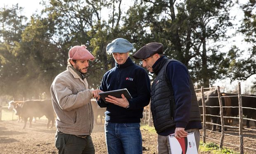
[[[32,124],[32,128],[21,129],[23,122],[2,121],[0,122],[0,153],[1,154],[57,154],[54,144],[56,128],[47,129],[46,120],[37,120]],[[150,133],[144,129],[142,131],[143,154],[157,154],[157,135]],[[202,132],[201,132],[202,133]],[[232,133],[232,131],[230,131]],[[214,133],[207,133],[208,137],[216,138],[218,135]],[[247,132],[246,136],[256,138],[255,132]],[[96,154],[107,154],[104,125],[95,125],[92,133],[92,140],[95,146]],[[219,140],[219,139],[218,139]],[[206,139],[206,142],[209,142]],[[255,140],[244,139],[244,146],[254,148],[256,146]],[[232,136],[225,136],[224,142],[239,144],[239,139]],[[219,141],[216,142],[219,144]],[[234,148],[234,146],[231,146]],[[229,148],[231,148],[229,147]],[[236,148],[239,150],[239,147]],[[244,149],[247,154],[254,154],[256,151]],[[209,152],[199,152],[199,154],[206,154]]]

